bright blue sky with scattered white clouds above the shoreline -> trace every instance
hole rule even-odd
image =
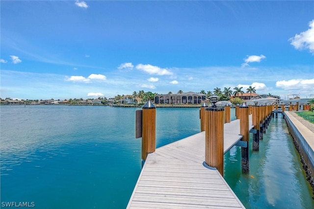
[[[0,1],[1,98],[314,94],[314,1]]]

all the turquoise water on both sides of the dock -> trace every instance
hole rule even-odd
[[[141,139],[134,137],[136,110],[1,106],[1,203],[33,202],[38,209],[125,208],[141,171]],[[260,152],[250,151],[249,175],[241,174],[240,148],[225,156],[226,181],[247,208],[314,206],[282,121],[271,123],[284,134],[266,134]],[[199,131],[198,108],[157,109],[157,147]]]

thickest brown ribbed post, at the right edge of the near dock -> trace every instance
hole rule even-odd
[[[224,176],[224,108],[206,108],[205,163]]]

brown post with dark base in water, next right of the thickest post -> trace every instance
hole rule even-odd
[[[246,143],[246,147],[241,147],[241,168],[243,173],[250,172],[250,163],[249,163],[249,106],[245,103],[241,104],[239,107],[239,116],[240,116],[240,135],[242,135],[241,141]]]

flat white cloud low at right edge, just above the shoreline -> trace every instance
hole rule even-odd
[[[314,89],[314,79],[291,79],[276,82],[276,87],[284,90],[305,90]]]

